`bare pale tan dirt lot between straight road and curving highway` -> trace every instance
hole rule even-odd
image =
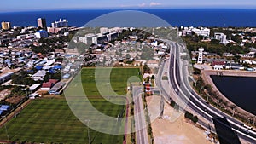
[[[155,109],[160,108],[160,96],[158,98],[152,96],[147,97],[148,111],[154,112]],[[211,144],[213,142],[207,140],[207,134],[204,130],[195,127],[194,124],[190,124],[187,119],[184,118],[183,113],[173,120],[174,117],[179,115],[179,112],[173,110],[171,106],[165,103],[163,118],[152,119],[152,130],[154,135],[155,144]]]

